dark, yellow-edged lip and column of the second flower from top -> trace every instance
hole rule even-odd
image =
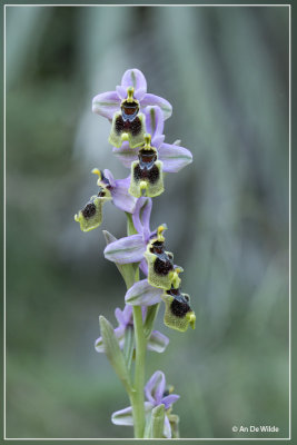
[[[129,192],[139,198],[155,197],[164,191],[162,162],[158,159],[157,150],[150,146],[150,135],[145,135],[145,146],[138,152],[138,160],[131,164],[131,184]]]

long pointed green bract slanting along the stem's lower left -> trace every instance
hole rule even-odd
[[[131,384],[129,370],[126,365],[122,352],[120,350],[119,342],[113,333],[113,327],[102,315],[100,315],[99,317],[99,324],[107,358],[116,370],[126,390],[128,392],[128,394],[130,394]]]

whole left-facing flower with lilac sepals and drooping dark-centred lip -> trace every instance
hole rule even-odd
[[[130,177],[115,180],[108,169],[101,171],[98,168],[92,169],[92,174],[98,175],[98,195],[92,196],[85,208],[75,216],[75,220],[80,222],[82,231],[89,231],[100,226],[102,222],[102,205],[106,201],[112,200],[116,207],[129,214],[133,212],[137,201],[128,191]]]

